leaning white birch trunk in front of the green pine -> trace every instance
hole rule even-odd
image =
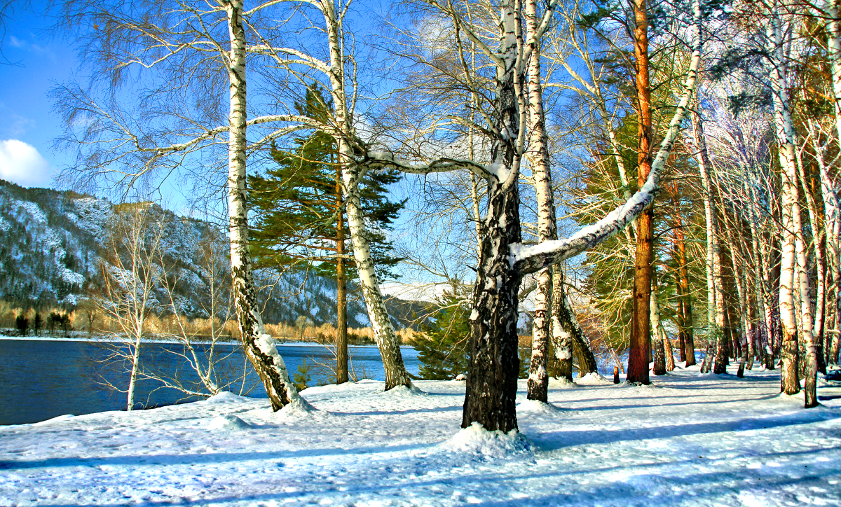
[[[368,308],[368,318],[371,321],[374,339],[377,341],[379,354],[383,359],[385,370],[385,390],[397,386],[412,385],[409,372],[406,371],[403,355],[400,352],[400,342],[394,326],[385,309],[383,293],[379,288],[377,273],[374,271],[371,245],[368,240],[368,228],[365,225],[364,214],[358,193],[358,180],[362,176],[359,166],[351,164],[353,160],[352,114],[348,106],[345,91],[345,58],[342,51],[341,18],[337,13],[336,4],[331,0],[320,0],[318,8],[325,18],[328,50],[330,53],[329,78],[331,82],[331,98],[333,99],[337,136],[339,145],[339,166],[341,167],[343,194],[347,211],[347,225],[351,230],[353,241],[353,256],[357,262],[359,283],[362,286],[362,298]]]

